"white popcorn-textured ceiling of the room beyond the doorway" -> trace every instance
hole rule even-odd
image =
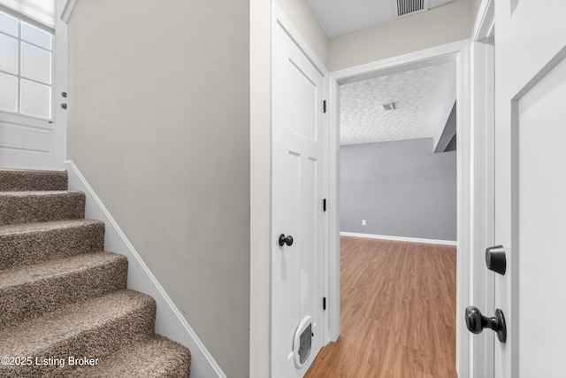
[[[451,109],[455,64],[444,63],[340,86],[340,144],[437,135]],[[395,104],[386,111],[383,104]]]

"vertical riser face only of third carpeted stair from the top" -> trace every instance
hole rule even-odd
[[[0,236],[0,269],[30,266],[104,249],[104,224]]]

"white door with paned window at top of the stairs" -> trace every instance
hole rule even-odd
[[[0,8],[2,167],[63,166],[66,112],[61,104],[66,98],[61,94],[67,86],[67,26],[57,14],[64,5],[65,0],[54,2],[56,17],[53,21],[51,15],[51,27],[10,8]]]

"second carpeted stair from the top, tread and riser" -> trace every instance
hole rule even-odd
[[[85,194],[79,191],[0,192],[0,225],[84,218]]]

